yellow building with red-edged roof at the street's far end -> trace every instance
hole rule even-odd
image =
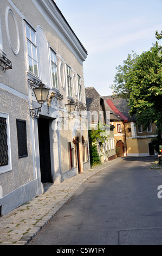
[[[154,138],[157,127],[154,123],[143,130],[143,126],[136,124],[135,117],[129,116],[129,108],[124,99],[114,96],[104,96],[107,111],[111,112],[113,120],[114,141],[118,156],[151,156],[154,152],[151,139]],[[107,103],[107,105],[106,105]]]

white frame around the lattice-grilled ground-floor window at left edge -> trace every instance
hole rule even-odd
[[[11,163],[11,142],[10,142],[10,122],[9,122],[9,115],[5,113],[0,113],[0,117],[6,118],[7,120],[7,145],[8,145],[8,165],[0,166],[0,174],[9,172],[12,170],[12,163]]]

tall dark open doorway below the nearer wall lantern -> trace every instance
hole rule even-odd
[[[51,160],[48,119],[38,119],[38,137],[40,148],[41,181],[51,182]]]

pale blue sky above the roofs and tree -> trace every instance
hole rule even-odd
[[[132,51],[141,54],[162,31],[162,0],[56,0],[88,52],[83,62],[85,87],[112,95],[116,66]],[[160,42],[160,40],[159,40]],[[161,42],[160,42],[161,43]]]

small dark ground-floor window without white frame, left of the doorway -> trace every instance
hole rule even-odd
[[[22,158],[22,157],[28,156],[26,121],[17,119],[16,126],[17,126],[18,157]]]

